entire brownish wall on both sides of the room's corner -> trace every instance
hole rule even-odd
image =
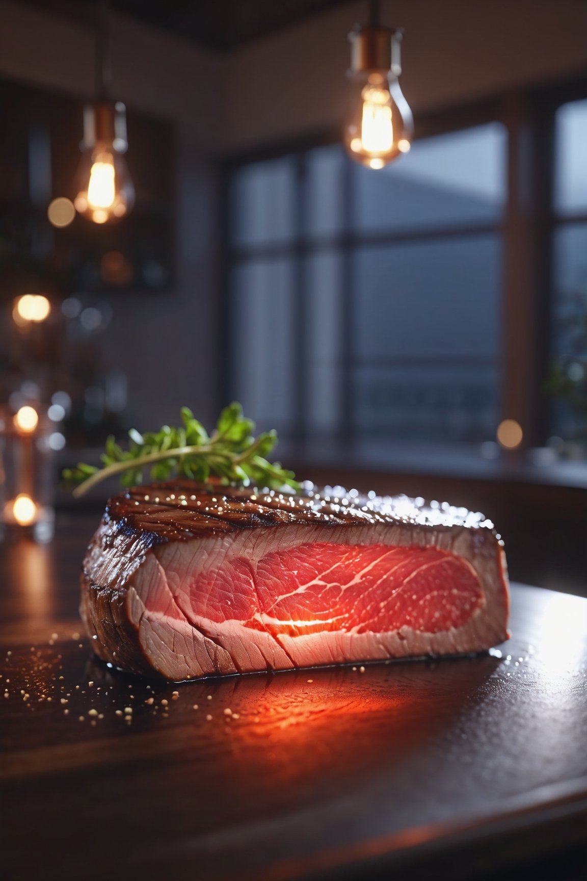
[[[341,126],[347,33],[366,3],[308,19],[229,56],[114,17],[113,90],[170,119],[177,133],[177,285],[169,296],[124,294],[106,357],[129,378],[138,425],[175,418],[181,403],[216,411],[218,300],[214,159],[254,144]],[[418,114],[587,70],[584,0],[391,0],[383,19],[406,28],[403,86]],[[0,0],[0,77],[89,95],[89,28]],[[128,339],[132,344],[128,344]]]

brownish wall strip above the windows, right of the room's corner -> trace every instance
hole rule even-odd
[[[417,115],[587,70],[584,0],[388,0],[403,26],[402,88]],[[336,130],[347,106],[347,34],[367,4],[340,8],[240,48],[224,66],[228,152]]]

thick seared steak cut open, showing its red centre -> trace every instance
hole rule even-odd
[[[81,583],[99,657],[175,681],[459,655],[509,635],[491,522],[341,487],[131,489],[109,501]]]

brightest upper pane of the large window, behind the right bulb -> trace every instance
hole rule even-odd
[[[416,141],[379,171],[354,166],[356,229],[498,222],[507,195],[506,147],[506,130],[491,122]]]

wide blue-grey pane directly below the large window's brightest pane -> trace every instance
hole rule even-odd
[[[496,235],[359,248],[355,272],[359,358],[495,357]]]

